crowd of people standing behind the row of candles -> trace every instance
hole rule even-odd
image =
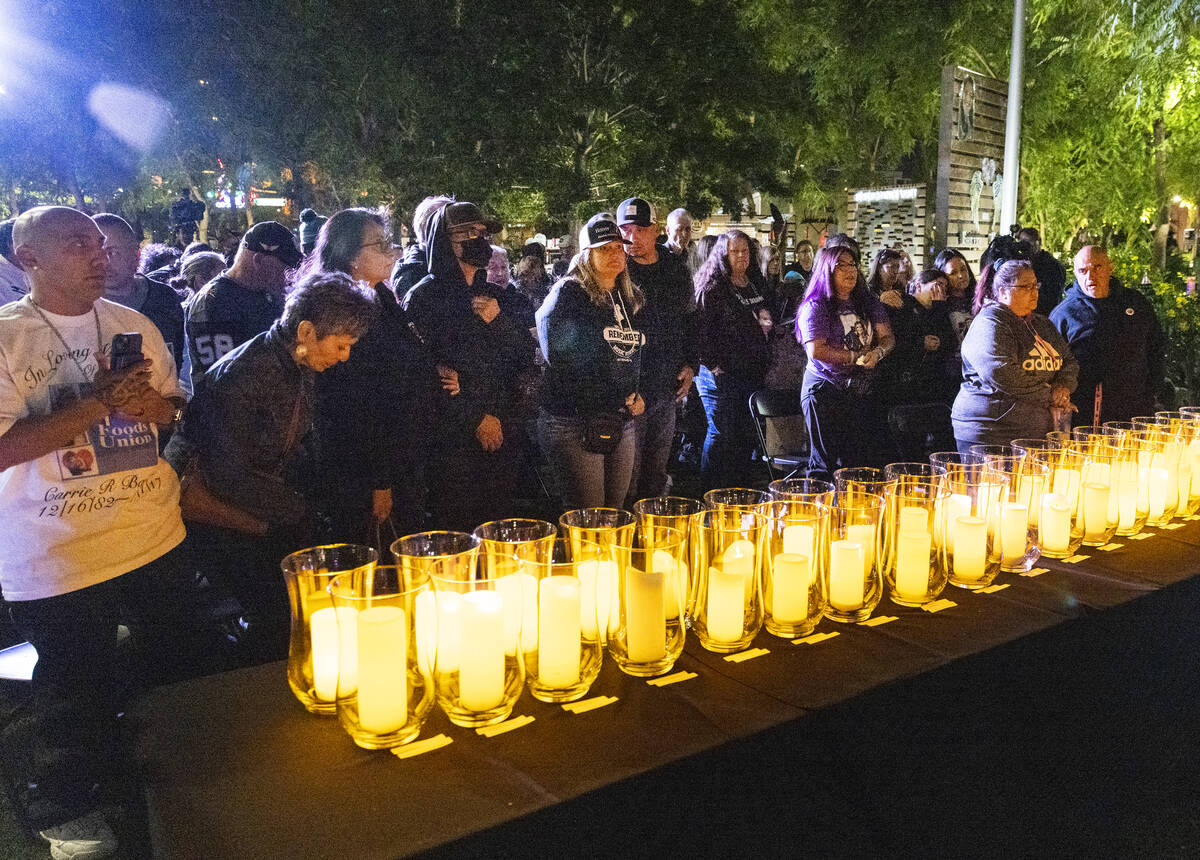
[[[299,243],[260,222],[227,260],[140,248],[112,214],[0,223],[0,587],[38,652],[23,802],[60,854],[112,842],[116,620],[156,678],[203,670],[198,575],[240,605],[246,658],[280,658],[286,553],[512,516],[539,463],[563,509],[668,493],[684,402],[712,488],[761,468],[766,386],[799,392],[828,479],[902,459],[896,410],[937,407],[930,439],[965,451],[1148,414],[1163,381],[1162,329],[1104,249],[1066,289],[1036,231],[977,279],[954,248],[918,272],[845,234],[791,261],[740,230],[694,240],[638,197],[554,272],[538,243],[511,266],[473,203],[427,198],[412,227],[401,252],[379,211],[306,210]]]

